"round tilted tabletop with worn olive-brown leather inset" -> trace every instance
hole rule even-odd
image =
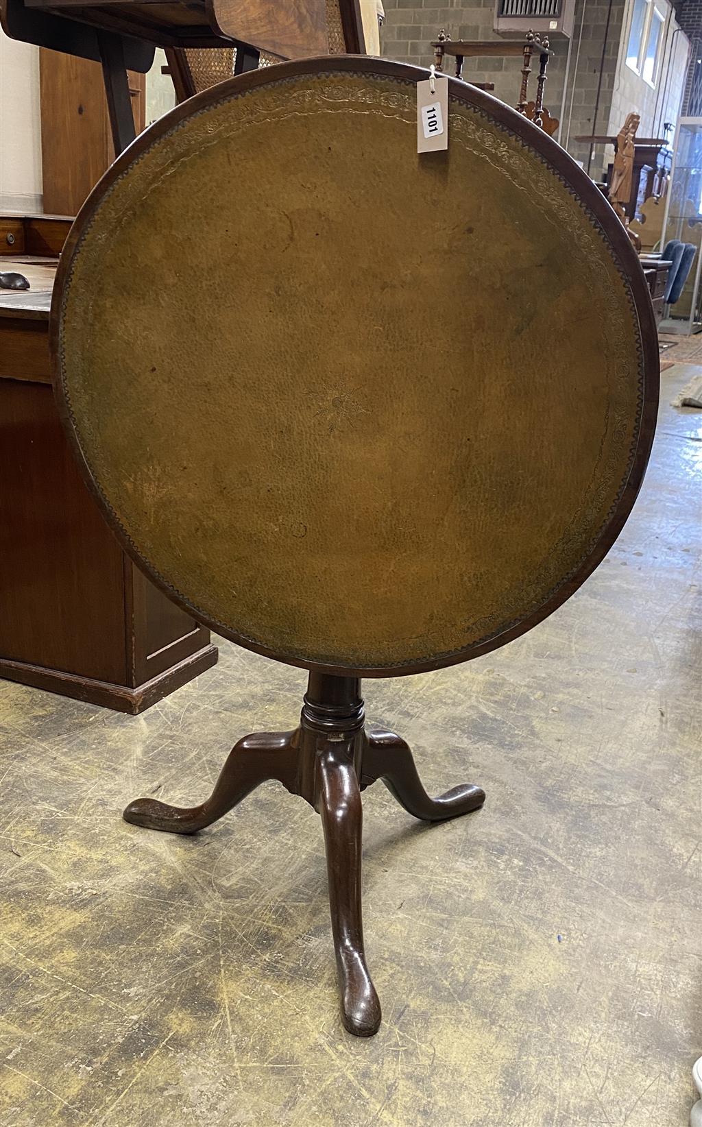
[[[296,665],[397,675],[559,606],[633,504],[658,391],[624,229],[556,142],[424,71],[224,82],[82,208],[55,387],[127,550],[197,619]]]

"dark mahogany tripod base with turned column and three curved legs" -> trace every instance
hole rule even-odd
[[[148,829],[194,834],[267,779],[301,795],[321,816],[341,1019],[349,1033],[371,1037],[377,1032],[381,1009],[363,948],[361,791],[381,779],[409,814],[428,822],[477,810],[485,791],[466,784],[429,798],[405,740],[391,731],[365,729],[358,678],[311,673],[300,727],[245,736],[234,744],[202,806],[181,808],[139,798],[124,818]]]

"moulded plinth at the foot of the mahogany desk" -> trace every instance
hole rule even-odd
[[[27,662],[10,662],[7,658],[0,658],[0,677],[5,677],[6,681],[18,681],[34,689],[44,689],[48,693],[72,696],[88,704],[101,704],[103,708],[112,708],[115,712],[139,716],[163,696],[168,696],[205,669],[216,665],[217,656],[216,646],[204,646],[135,689],[110,684],[107,681],[95,681],[92,677],[82,677],[74,673],[63,673],[61,669],[45,669],[41,665],[29,665]]]

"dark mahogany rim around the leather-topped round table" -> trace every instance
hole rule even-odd
[[[385,59],[376,59],[368,55],[323,55],[294,60],[292,62],[279,63],[274,68],[248,71],[234,78],[226,79],[207,90],[203,90],[189,98],[187,101],[176,106],[163,117],[154,122],[149,128],[141,133],[127,148],[117,157],[115,162],[107,170],[101,180],[96,185],[78,213],[75,221],[65,241],[56,279],[54,283],[51,320],[50,320],[50,354],[53,373],[53,387],[56,397],[59,414],[69,435],[75,459],[83,474],[88,488],[96,497],[105,518],[114,530],[124,550],[132,557],[134,562],[144,571],[151,582],[159,587],[169,598],[187,613],[192,614],[203,625],[208,627],[215,633],[225,637],[236,645],[241,646],[255,654],[272,658],[284,665],[292,665],[297,668],[317,671],[320,673],[334,674],[343,677],[398,677],[408,676],[416,673],[428,673],[434,669],[457,665],[462,662],[472,660],[489,654],[491,650],[519,638],[539,622],[553,613],[565,603],[575,591],[585,583],[595,568],[602,562],[610,551],[612,544],[617,539],[624,523],[631,512],[633,503],[639,492],[648,459],[650,455],[655,424],[658,410],[659,394],[659,353],[658,332],[655,321],[654,308],[650,300],[649,289],[646,282],[643,269],[639,263],[636,250],[622,225],[619,216],[613,211],[602,193],[595,187],[586,172],[575,162],[575,160],[562,149],[558,142],[553,141],[543,130],[539,128],[523,115],[516,113],[505,103],[492,97],[483,90],[463,82],[460,79],[446,76],[448,81],[448,95],[457,101],[472,106],[478,112],[498,124],[499,127],[512,133],[518,141],[531,147],[539,157],[550,165],[567,188],[579,199],[580,206],[586,208],[597,221],[602,236],[608,241],[617,266],[631,289],[633,300],[633,313],[638,318],[641,336],[641,365],[643,371],[643,394],[641,403],[639,434],[637,449],[632,458],[631,468],[625,486],[622,489],[619,502],[615,504],[610,520],[593,545],[588,556],[581,561],[575,573],[563,580],[561,585],[552,592],[549,597],[536,607],[531,614],[521,619],[517,623],[507,627],[500,633],[490,637],[481,642],[471,645],[461,650],[438,655],[434,658],[416,660],[399,665],[384,665],[379,667],[356,667],[347,665],[336,665],[334,663],[313,662],[293,655],[282,656],[270,647],[260,645],[236,631],[229,629],[224,623],[210,618],[202,610],[195,607],[180,592],[177,592],[163,577],[153,569],[136,551],[127,538],[125,530],[113,513],[106,498],[95,481],[92,473],[86,462],[83,451],[78,441],[78,436],[71,423],[69,403],[66,401],[63,382],[61,379],[60,358],[60,318],[61,299],[63,284],[69,275],[73,251],[82,238],[86,228],[92,219],[92,214],[101,201],[105,192],[123,175],[132,161],[140,157],[150,144],[169,133],[179,122],[189,117],[193,113],[204,109],[210,105],[225,100],[231,94],[243,94],[254,90],[259,86],[272,82],[283,82],[288,78],[296,78],[305,74],[321,76],[325,73],[358,73],[380,74],[390,79],[398,79],[403,83],[419,82],[428,79],[429,71],[425,68],[409,65],[407,63],[396,63]]]

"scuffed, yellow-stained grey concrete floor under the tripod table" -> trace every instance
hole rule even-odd
[[[365,792],[366,946],[384,1021],[337,1018],[321,826],[268,783],[194,838],[127,826],[208,792],[304,674],[226,644],[127,718],[2,686],[3,1127],[677,1127],[700,1008],[702,414],[668,407],[634,515],[545,623],[365,683],[434,792]]]

